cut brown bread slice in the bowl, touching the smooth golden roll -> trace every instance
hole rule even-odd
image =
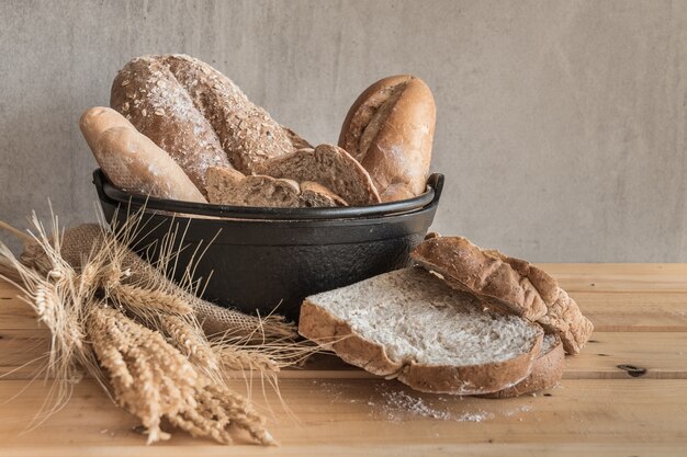
[[[270,159],[257,165],[257,172],[299,182],[317,182],[349,205],[380,203],[380,195],[368,172],[338,146],[319,145],[315,149],[301,149]]]

